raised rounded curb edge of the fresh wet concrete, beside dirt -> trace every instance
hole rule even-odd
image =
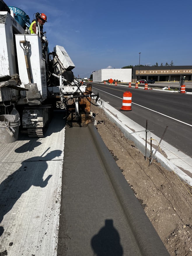
[[[93,124],[88,128],[142,255],[170,256]]]

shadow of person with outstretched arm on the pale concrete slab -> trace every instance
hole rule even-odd
[[[45,151],[46,152],[46,151]],[[53,150],[50,153],[26,159],[21,163],[21,167],[10,174],[0,184],[0,223],[4,215],[8,213],[20,198],[20,196],[30,189],[31,186],[44,188],[52,175],[48,175],[43,180],[43,175],[48,168],[47,161],[60,156],[61,150]],[[42,162],[43,161],[43,162]],[[11,220],[10,220],[11,221]],[[4,227],[0,226],[0,236],[4,232]]]

